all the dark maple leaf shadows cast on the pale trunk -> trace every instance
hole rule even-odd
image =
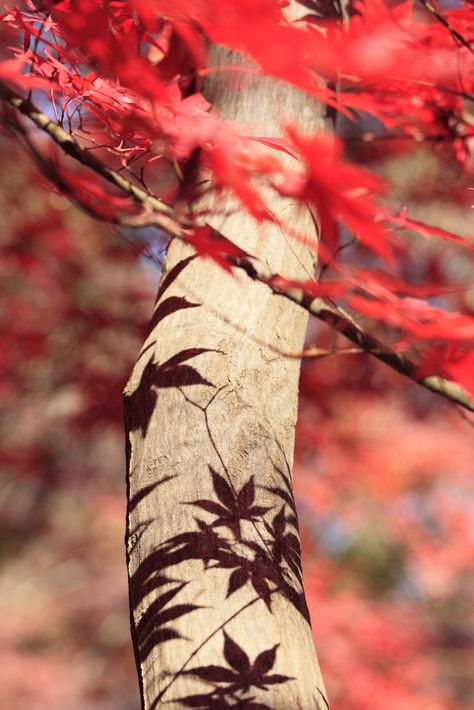
[[[165,276],[151,329],[156,328],[164,318],[180,309],[198,307],[199,304],[190,303],[181,297],[171,296],[161,302],[159,300],[191,260],[191,258],[183,260]],[[145,351],[149,347],[147,346]],[[273,487],[258,485],[256,481],[259,474],[256,472],[249,473],[243,482],[239,476],[241,483],[240,487],[236,488],[232,471],[228,470],[217,449],[207,417],[207,407],[221,390],[216,389],[199,372],[194,363],[190,364],[194,358],[210,352],[221,351],[201,347],[186,348],[164,362],[148,362],[141,372],[134,392],[125,396],[128,430],[135,436],[144,438],[151,417],[154,416],[159,404],[160,390],[165,388],[179,390],[186,401],[203,412],[207,435],[221,467],[218,471],[210,464],[207,466],[209,476],[209,485],[205,486],[205,490],[208,491],[207,497],[182,502],[183,506],[187,506],[192,511],[192,517],[187,519],[187,529],[155,545],[131,574],[132,637],[140,676],[140,669],[158,646],[187,641],[189,647],[189,641],[195,642],[194,649],[178,670],[172,671],[166,668],[162,670],[164,676],[168,676],[170,680],[162,687],[150,708],[166,702],[162,698],[168,688],[179,676],[187,675],[199,679],[202,684],[211,684],[212,688],[209,692],[176,700],[183,706],[245,707],[259,710],[271,708],[271,702],[270,705],[265,704],[265,699],[260,702],[262,693],[265,695],[272,687],[294,679],[271,672],[276,660],[278,644],[260,653],[251,663],[245,650],[226,633],[224,627],[254,603],[263,603],[266,610],[273,613],[272,602],[276,596],[284,597],[309,624],[302,584],[296,508],[288,476],[276,466],[270,455],[268,455],[269,466],[280,474],[278,482]],[[214,394],[206,407],[192,402],[186,394],[189,391],[188,387],[196,385],[214,389]],[[284,452],[281,453],[289,470]],[[127,461],[130,470],[130,443],[127,449]],[[133,497],[129,496],[128,514],[133,513],[134,520],[139,521],[135,522],[134,529],[127,529],[129,569],[131,555],[137,553],[137,547],[143,536],[156,523],[154,513],[150,515],[148,497],[156,493],[157,488],[161,486],[165,487],[165,492],[162,494],[160,491],[160,496],[166,495],[166,486],[175,485],[176,478],[177,474],[164,475],[159,481],[147,483],[139,488]],[[261,495],[263,492],[265,494]],[[262,499],[263,505],[259,498]],[[140,519],[142,504],[147,515]],[[199,561],[202,564],[202,571],[196,579],[193,579],[189,572],[186,573],[186,578],[181,578],[183,563],[192,561]],[[196,570],[196,566],[187,565],[187,570],[189,569]],[[189,593],[190,585],[197,582],[196,589],[202,588],[200,578],[211,570],[214,578],[216,574],[222,576],[221,588],[224,590],[225,601],[230,600],[232,613],[222,623],[217,620],[219,625],[204,641],[189,639],[184,635],[185,624],[181,623],[181,620],[189,614],[206,608],[205,601],[204,604],[190,603],[190,599],[196,599],[195,594]],[[237,592],[243,587],[247,587],[255,596],[251,602],[242,606]],[[198,597],[197,602],[199,601]],[[191,661],[198,655],[202,646],[221,632],[224,634],[223,661],[227,665],[191,667]],[[239,643],[242,643],[241,639]],[[141,682],[143,682],[142,677]]]

